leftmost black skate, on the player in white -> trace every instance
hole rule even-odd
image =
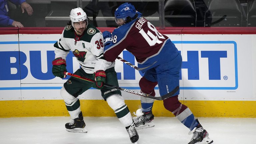
[[[72,119],[69,123],[65,124],[66,130],[69,132],[87,133],[83,119],[83,114],[80,112],[78,118]]]

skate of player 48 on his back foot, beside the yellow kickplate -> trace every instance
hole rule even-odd
[[[141,109],[138,109],[135,115],[137,117],[133,117],[133,121],[137,130],[151,128],[155,126],[153,122],[154,115],[152,114],[152,112],[143,113]]]

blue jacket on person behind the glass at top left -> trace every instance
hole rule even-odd
[[[9,0],[9,1],[16,5],[20,5],[21,3],[25,2],[26,0]],[[10,19],[10,17],[8,16],[8,12],[5,8],[5,5],[7,5],[8,9],[9,9],[7,0],[0,0],[0,25],[9,26],[9,25],[12,25],[14,20]]]

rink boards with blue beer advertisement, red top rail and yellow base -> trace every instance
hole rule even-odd
[[[102,32],[113,28],[99,28]],[[0,117],[68,116],[59,94],[66,79],[51,73],[53,44],[63,28],[0,29]],[[256,66],[253,28],[166,28],[183,62],[179,100],[197,117],[256,117]],[[128,51],[119,55],[137,65]],[[72,53],[67,70],[79,68]],[[140,91],[143,73],[116,60],[119,86]],[[68,77],[69,78],[69,77]],[[157,95],[158,86],[155,88]],[[140,108],[140,97],[122,92],[131,112]],[[84,116],[115,116],[100,91],[79,96]],[[162,101],[155,101],[155,116],[171,117]]]

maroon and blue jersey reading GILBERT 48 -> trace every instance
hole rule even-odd
[[[142,17],[114,29],[112,43],[105,46],[104,57],[113,62],[124,49],[135,56],[138,67],[147,67],[155,62],[160,64],[159,59],[163,56],[170,58],[178,54],[170,39]]]

